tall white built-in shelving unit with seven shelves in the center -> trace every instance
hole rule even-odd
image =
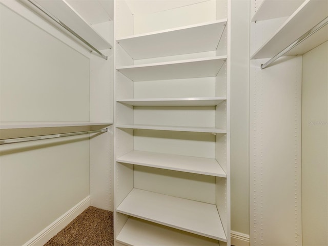
[[[230,245],[230,3],[146,3],[114,2],[114,240]]]

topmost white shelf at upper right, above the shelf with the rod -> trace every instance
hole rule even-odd
[[[291,16],[304,0],[264,0],[252,18],[252,22]]]

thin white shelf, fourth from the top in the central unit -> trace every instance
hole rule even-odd
[[[226,130],[214,127],[177,127],[177,126],[157,126],[139,124],[117,124],[117,128],[145,129],[159,131],[179,131],[179,132],[207,132],[207,133],[227,133]]]

